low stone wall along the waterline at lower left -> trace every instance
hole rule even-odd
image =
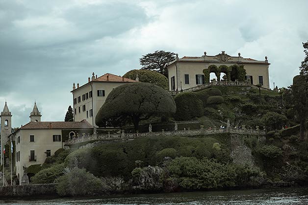
[[[55,183],[0,186],[0,198],[29,196],[58,196],[55,191]]]

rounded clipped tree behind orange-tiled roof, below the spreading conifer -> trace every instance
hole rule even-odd
[[[165,90],[168,90],[169,88],[168,78],[155,70],[146,70],[146,69],[130,70],[127,73],[125,73],[123,77],[136,80],[137,74],[140,82],[152,83]]]

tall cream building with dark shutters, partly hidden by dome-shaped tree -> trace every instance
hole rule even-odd
[[[88,78],[88,83],[77,87],[73,85],[74,121],[87,120],[95,125],[95,117],[104,104],[108,94],[116,87],[134,80],[106,73],[100,77]]]

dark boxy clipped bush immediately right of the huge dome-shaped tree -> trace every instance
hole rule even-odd
[[[177,105],[176,120],[190,120],[203,115],[203,103],[193,92],[182,92],[174,98]]]

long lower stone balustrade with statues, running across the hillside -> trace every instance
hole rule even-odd
[[[243,128],[214,128],[214,129],[204,129],[203,126],[199,130],[178,130],[178,131],[162,131],[162,132],[148,132],[148,133],[125,133],[123,130],[119,133],[108,133],[103,135],[98,135],[94,133],[93,135],[83,134],[80,137],[73,136],[71,139],[65,142],[65,145],[77,144],[80,142],[92,141],[92,140],[116,140],[116,139],[134,139],[140,137],[195,137],[195,136],[206,136],[216,133],[232,133],[232,134],[245,134],[245,135],[266,135],[265,130],[257,129],[246,129]]]

